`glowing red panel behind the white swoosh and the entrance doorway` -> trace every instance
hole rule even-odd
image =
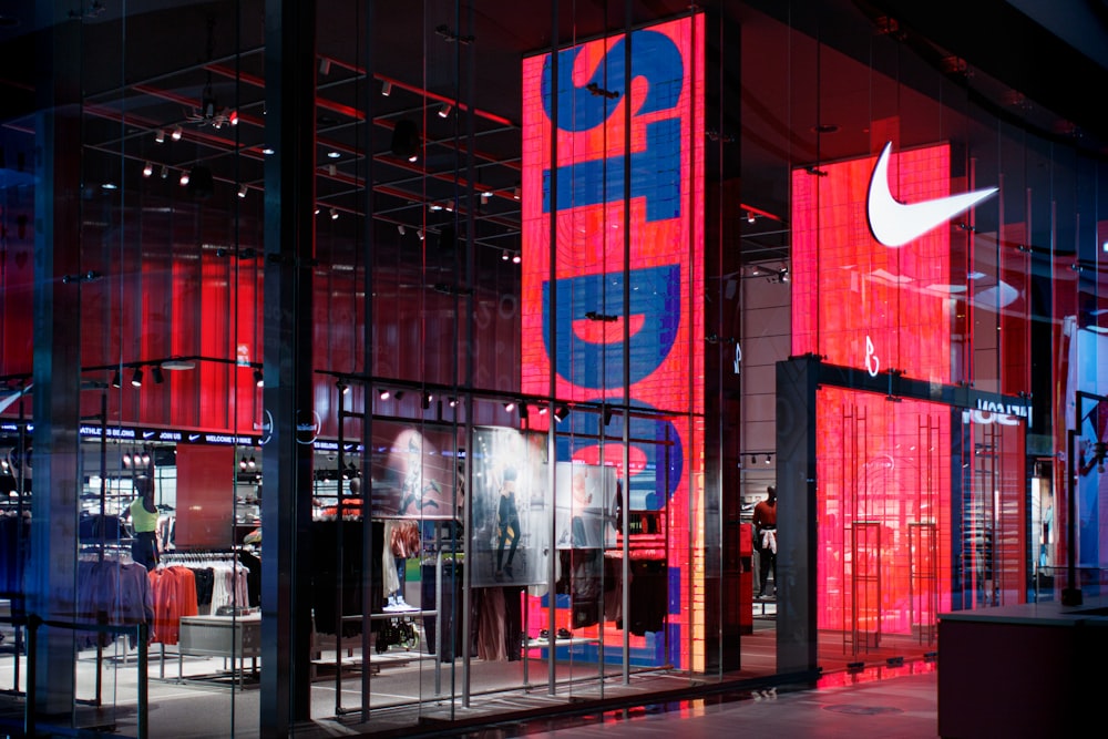
[[[876,242],[866,223],[876,161],[793,172],[792,351],[948,384],[950,225],[901,247]],[[902,203],[951,194],[950,147],[894,152],[889,182]],[[817,428],[820,628],[933,625],[951,606],[951,410],[828,388]]]

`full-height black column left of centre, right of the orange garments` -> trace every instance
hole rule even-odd
[[[311,298],[316,2],[266,1],[265,410],[261,736],[310,718]]]

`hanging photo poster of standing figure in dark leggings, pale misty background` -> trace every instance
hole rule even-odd
[[[551,503],[544,440],[515,429],[473,432],[474,587],[546,582]]]

